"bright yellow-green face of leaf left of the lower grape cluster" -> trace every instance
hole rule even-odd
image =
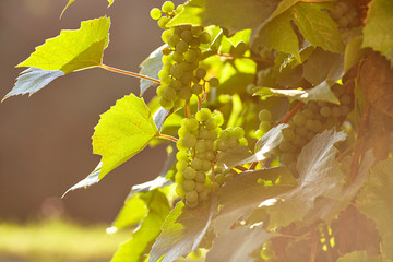
[[[99,178],[142,151],[158,135],[143,98],[131,94],[117,100],[100,120],[93,134],[93,153],[102,155]]]

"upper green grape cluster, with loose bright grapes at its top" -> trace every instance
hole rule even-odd
[[[160,86],[157,87],[159,104],[165,109],[181,107],[191,96],[200,95],[207,82],[204,80],[206,71],[200,68],[201,45],[211,43],[211,35],[202,26],[180,25],[167,28],[170,19],[181,12],[182,5],[175,10],[175,4],[166,1],[162,10],[151,11],[152,19],[158,20],[158,26],[165,29],[162,39],[168,46],[163,49],[163,69],[158,76]],[[162,16],[165,14],[165,16]],[[212,87],[218,86],[218,80],[209,80]]]

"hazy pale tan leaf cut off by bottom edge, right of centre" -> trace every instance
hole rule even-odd
[[[262,225],[252,228],[249,226],[236,227],[214,240],[212,249],[206,254],[206,262],[254,261],[250,254],[271,237],[273,234],[265,231]]]

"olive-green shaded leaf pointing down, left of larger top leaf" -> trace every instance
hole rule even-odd
[[[291,10],[287,10],[272,19],[259,32],[253,45],[290,53],[300,62],[299,40],[290,24],[294,19]]]

